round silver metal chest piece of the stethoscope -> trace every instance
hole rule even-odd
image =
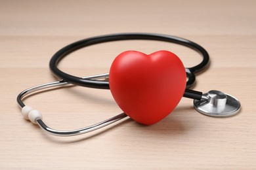
[[[194,108],[207,116],[232,116],[240,110],[240,102],[232,95],[217,90],[203,94],[201,100],[194,100]]]

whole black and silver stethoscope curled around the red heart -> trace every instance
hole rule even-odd
[[[91,46],[94,44],[99,44],[102,42],[110,42],[110,41],[123,41],[123,40],[153,40],[153,41],[165,41],[165,42],[173,42],[175,44],[181,44],[182,46],[187,46],[188,48],[192,48],[196,50],[203,56],[203,60],[196,66],[185,68],[187,81],[186,81],[186,89],[184,90],[183,97],[188,97],[190,99],[194,99],[194,108],[198,110],[198,112],[205,114],[207,116],[215,116],[215,117],[224,117],[224,116],[232,116],[240,110],[240,102],[232,95],[228,95],[223,92],[219,92],[217,90],[211,90],[207,93],[197,92],[195,90],[190,90],[190,88],[195,80],[195,73],[202,71],[207,64],[209,63],[209,55],[207,51],[202,48],[199,44],[195,42],[188,41],[186,39],[182,39],[180,37],[174,37],[171,35],[161,35],[154,33],[118,33],[113,35],[102,35],[98,37],[92,37],[89,39],[83,39],[81,41],[74,42],[60,49],[50,61],[50,68],[53,71],[53,74],[60,78],[61,80],[56,82],[50,82],[47,84],[41,84],[38,86],[33,86],[32,88],[28,88],[21,92],[18,97],[18,105],[22,108],[22,115],[26,120],[30,120],[34,124],[38,124],[41,129],[50,133],[51,135],[58,136],[72,136],[72,135],[80,135],[82,133],[87,133],[89,131],[94,131],[104,126],[108,126],[118,120],[121,120],[127,117],[127,114],[124,112],[109,118],[108,120],[104,120],[99,122],[93,126],[83,127],[81,129],[75,130],[56,130],[48,127],[42,118],[41,112],[39,110],[32,109],[24,104],[22,98],[26,95],[34,92],[38,92],[40,90],[44,90],[47,88],[54,88],[57,86],[65,86],[67,84],[74,84],[77,86],[84,86],[87,88],[99,88],[99,89],[110,89],[108,78],[109,74],[103,75],[95,75],[95,76],[85,76],[85,77],[77,77],[73,75],[69,75],[68,73],[64,73],[58,69],[58,62],[63,59],[68,54],[74,52],[75,50],[79,50],[80,48],[84,48],[86,46]]]

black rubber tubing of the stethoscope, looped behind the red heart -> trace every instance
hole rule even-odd
[[[195,42],[189,41],[187,39],[182,39],[180,37],[175,37],[171,35],[162,35],[155,33],[117,33],[112,35],[102,35],[98,37],[91,37],[89,39],[83,39],[58,50],[58,52],[56,52],[56,54],[54,54],[54,56],[51,58],[50,69],[55,76],[62,79],[64,82],[75,84],[77,86],[84,86],[87,88],[110,89],[108,81],[89,80],[87,78],[80,78],[77,76],[69,75],[67,73],[64,73],[63,71],[60,71],[57,65],[61,59],[63,59],[68,54],[74,52],[75,50],[79,50],[81,48],[103,42],[123,40],[153,40],[173,42],[175,44],[187,46],[188,48],[192,48],[193,50],[199,52],[203,56],[203,60],[194,67],[186,68],[186,75],[188,77],[188,81],[186,82],[186,90],[183,96],[192,99],[202,99],[202,92],[189,90],[188,88],[190,88],[190,86],[192,86],[192,84],[194,84],[196,80],[195,73],[201,71],[203,68],[206,67],[207,63],[209,63],[209,54],[199,44],[196,44]]]

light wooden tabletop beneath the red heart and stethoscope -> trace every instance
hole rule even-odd
[[[256,169],[256,1],[1,1],[0,169]],[[16,95],[56,80],[51,56],[96,35],[150,32],[201,44],[211,56],[194,90],[240,99],[230,118],[203,116],[182,99],[154,126],[125,120],[77,137],[53,137],[24,120]],[[108,73],[124,50],[171,50],[186,67],[201,61],[185,47],[155,41],[110,42],[60,63],[77,76]],[[28,97],[55,129],[75,129],[121,112],[110,91],[73,87]]]

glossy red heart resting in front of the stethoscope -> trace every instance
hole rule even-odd
[[[114,59],[109,82],[123,112],[140,124],[151,125],[178,105],[186,88],[186,71],[172,52],[126,51]]]

